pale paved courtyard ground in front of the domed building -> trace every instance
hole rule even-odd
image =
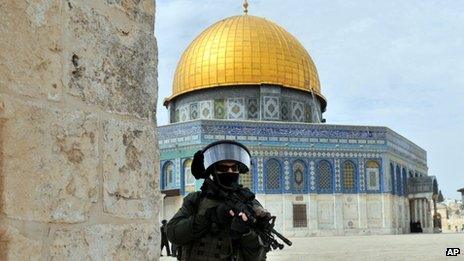
[[[448,247],[464,252],[464,234],[292,238],[293,246],[268,253],[268,260],[464,260],[445,256]],[[174,258],[162,257],[162,261]]]

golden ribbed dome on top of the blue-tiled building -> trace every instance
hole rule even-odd
[[[172,99],[218,86],[277,84],[320,92],[316,66],[298,40],[264,18],[240,15],[203,31],[183,53]]]

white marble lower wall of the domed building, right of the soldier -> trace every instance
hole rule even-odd
[[[257,194],[289,237],[409,233],[407,199],[389,194]],[[293,205],[306,207],[307,225],[294,227]]]

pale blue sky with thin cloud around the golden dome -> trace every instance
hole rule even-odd
[[[249,1],[306,47],[328,100],[328,124],[387,126],[428,153],[445,197],[464,187],[464,2]],[[158,0],[158,124],[182,52],[241,0]]]

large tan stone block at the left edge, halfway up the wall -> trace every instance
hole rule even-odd
[[[0,206],[10,218],[85,221],[97,200],[98,122],[0,95]]]

